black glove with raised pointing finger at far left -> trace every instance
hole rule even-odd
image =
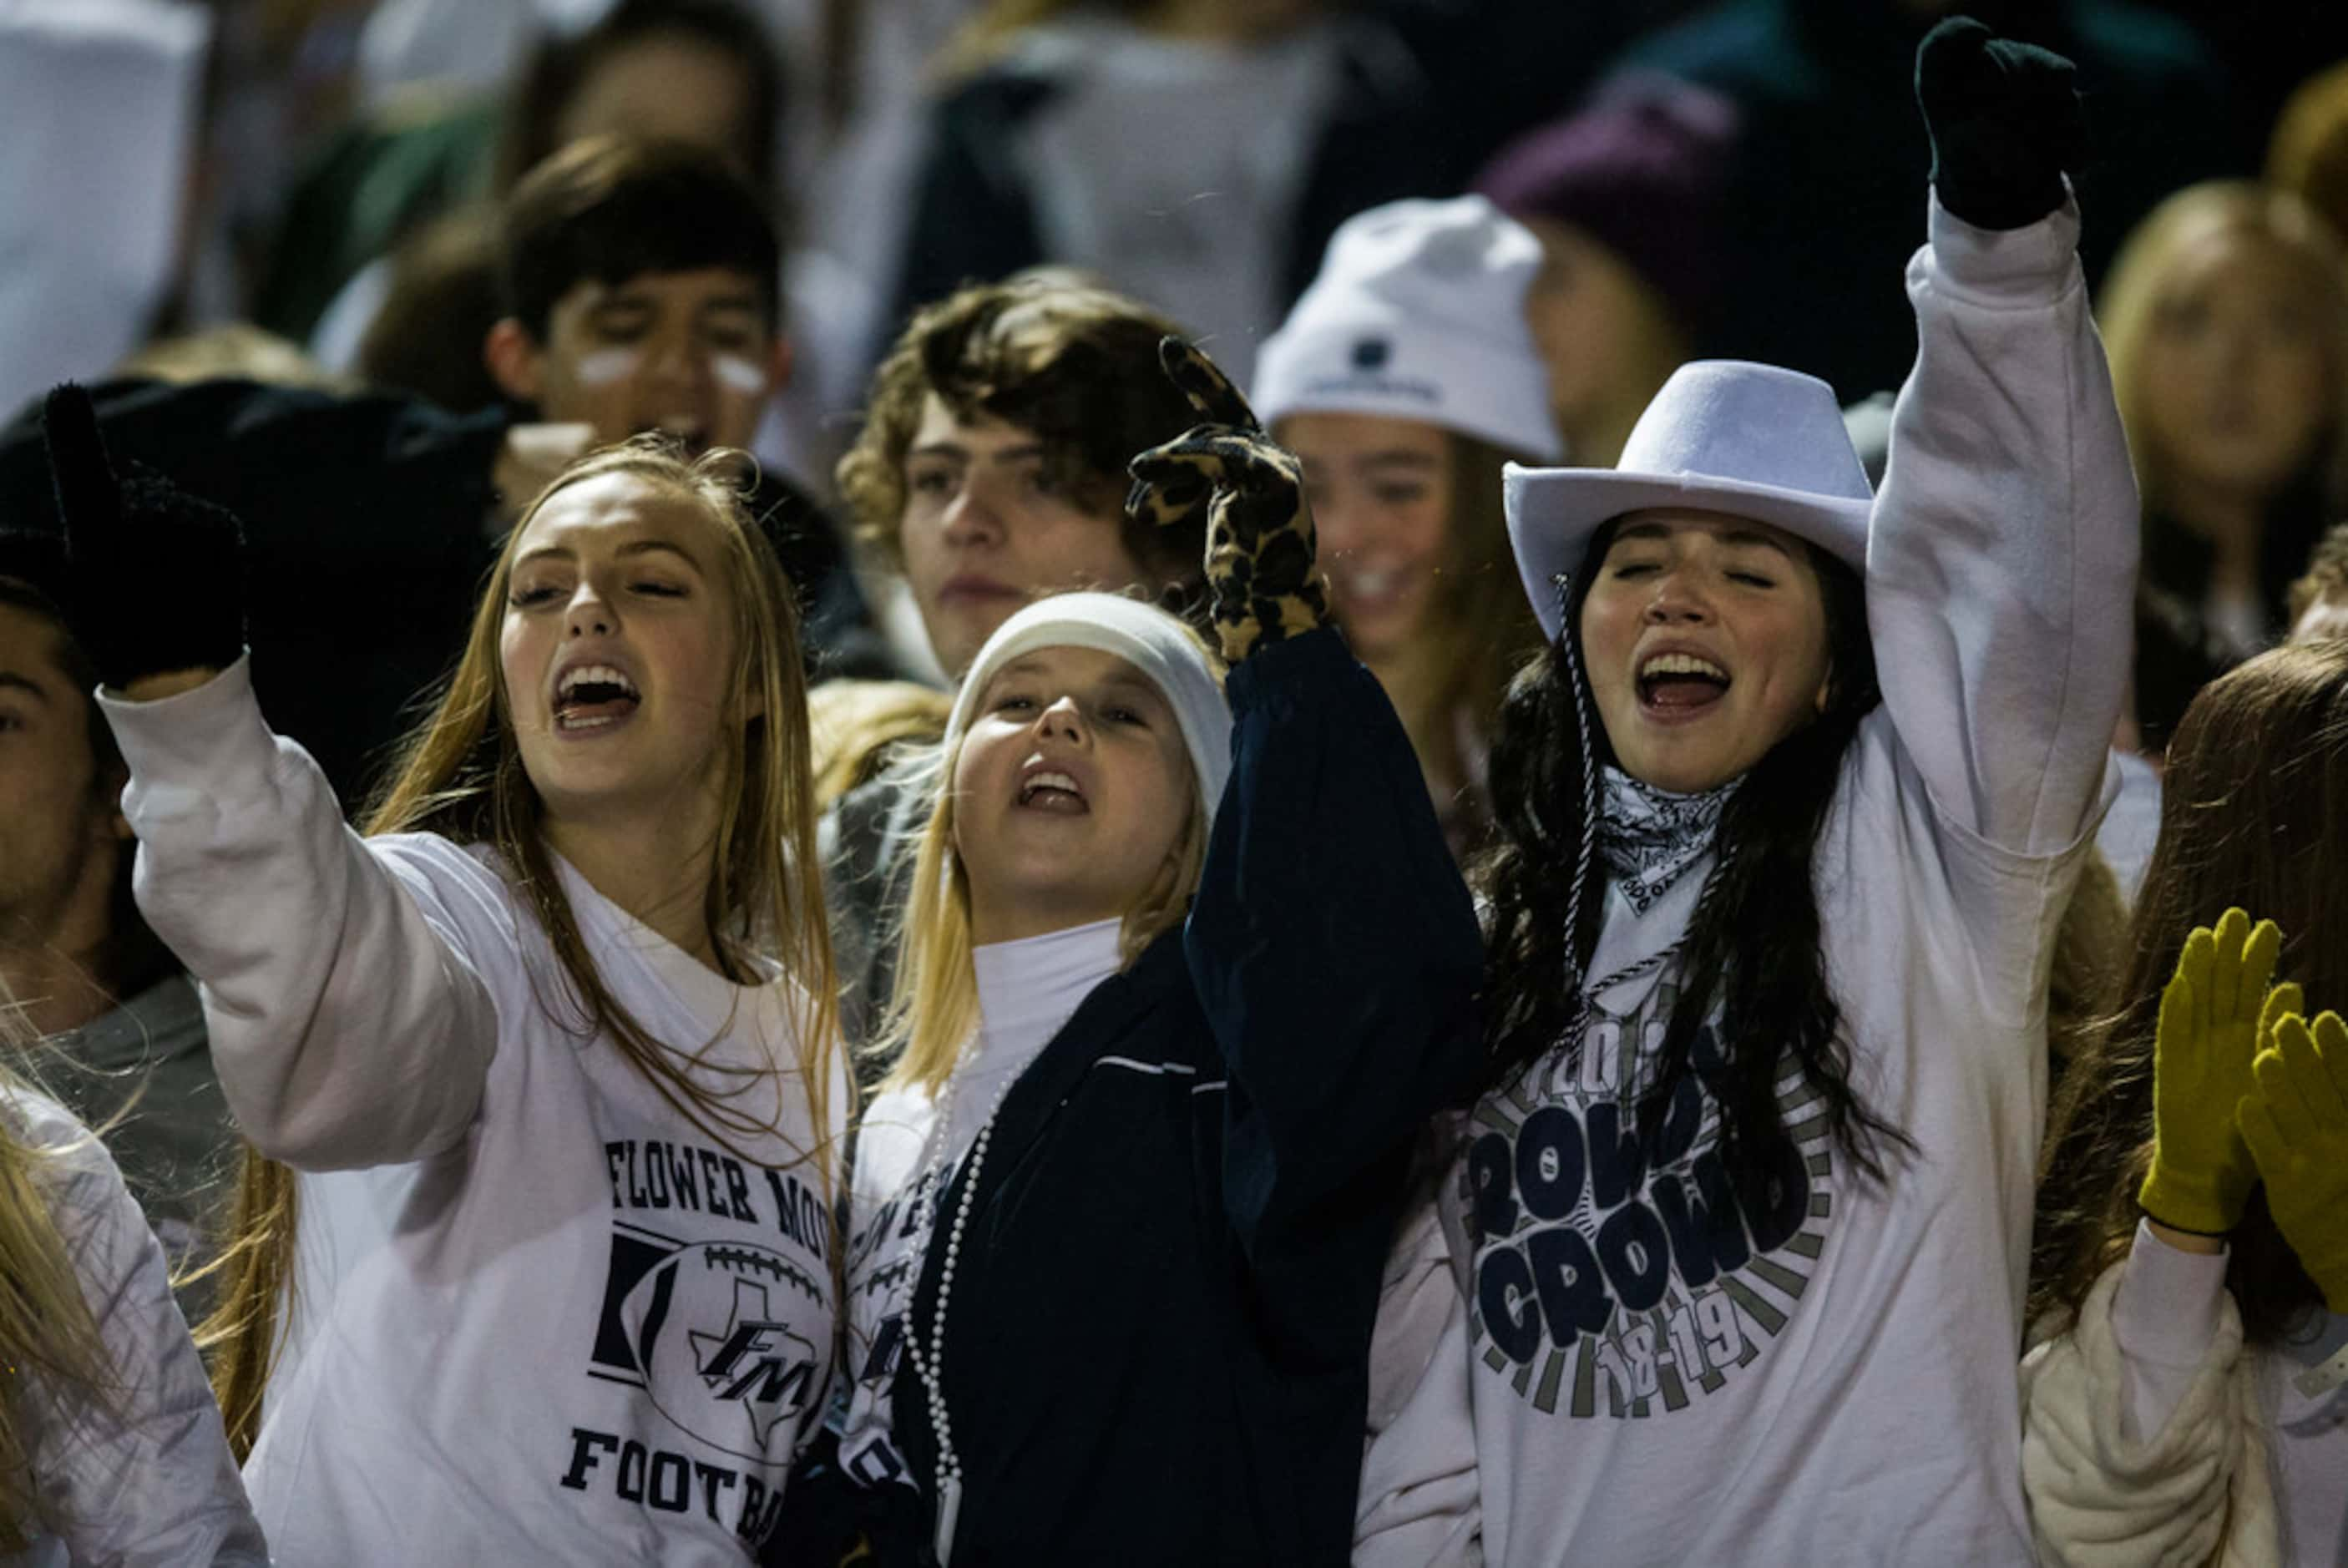
[[[232,512],[131,462],[106,460],[89,394],[66,383],[42,404],[49,479],[66,523],[66,615],[122,690],[141,676],[228,669],[244,653],[244,530]]]

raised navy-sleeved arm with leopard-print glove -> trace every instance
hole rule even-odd
[[[1259,1268],[1310,1251],[1331,1207],[1374,1223],[1357,1183],[1482,1049],[1484,951],[1435,805],[1385,692],[1327,624],[1296,458],[1202,357],[1167,373],[1205,425],[1134,462],[1134,509],[1209,514],[1207,582],[1233,662],[1233,770],[1186,948],[1230,1068],[1226,1204]]]

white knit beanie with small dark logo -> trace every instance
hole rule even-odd
[[[1477,195],[1348,218],[1256,354],[1256,418],[1383,413],[1557,462],[1550,376],[1524,319],[1536,272],[1533,232]]]

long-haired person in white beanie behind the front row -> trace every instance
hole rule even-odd
[[[1514,592],[1500,469],[1557,462],[1526,319],[1540,242],[1484,197],[1350,218],[1256,359],[1305,465],[1336,620],[1402,714],[1456,852],[1482,831],[1500,692],[1540,631]]]

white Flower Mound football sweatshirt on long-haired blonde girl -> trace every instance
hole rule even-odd
[[[486,847],[362,840],[247,662],[106,699],[139,906],[244,1134],[298,1167],[286,1354],[247,1460],[289,1563],[742,1563],[831,1371],[831,1195],[789,981],[730,986],[561,869],[610,993],[784,1138],[737,1157],[575,1023]],[[831,1169],[845,1087],[834,1084]],[[737,1138],[737,1143],[742,1143]]]

